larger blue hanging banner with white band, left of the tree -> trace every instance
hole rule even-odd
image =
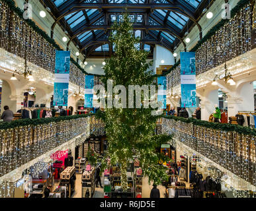
[[[56,51],[54,106],[67,106],[70,51]]]

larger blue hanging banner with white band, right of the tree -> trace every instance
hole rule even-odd
[[[195,57],[195,52],[181,52],[181,107],[196,107]]]

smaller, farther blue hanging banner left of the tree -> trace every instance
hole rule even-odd
[[[93,107],[94,76],[85,76],[85,107]]]

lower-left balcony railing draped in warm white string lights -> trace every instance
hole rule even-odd
[[[0,177],[83,133],[105,134],[104,124],[95,116],[71,116],[57,121],[58,118],[36,125],[26,125],[21,120],[19,123],[24,126],[0,129]]]

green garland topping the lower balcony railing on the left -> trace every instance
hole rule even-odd
[[[43,125],[48,123],[58,123],[64,120],[79,119],[95,115],[95,113],[83,114],[83,115],[71,115],[66,117],[52,117],[43,119],[18,119],[11,121],[10,123],[3,122],[0,123],[0,130],[12,129],[15,127],[22,127],[27,125]]]

